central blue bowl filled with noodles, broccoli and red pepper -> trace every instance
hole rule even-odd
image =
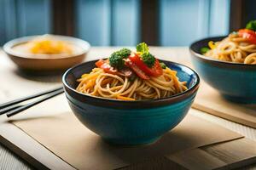
[[[147,44],[74,66],[62,77],[79,121],[111,144],[149,144],[176,127],[200,79],[189,67],[156,59]]]

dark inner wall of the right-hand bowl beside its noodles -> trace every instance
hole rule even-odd
[[[224,39],[224,37],[207,37],[205,39],[202,39],[200,41],[193,42],[190,46],[190,49],[194,51],[197,54],[201,54],[201,48],[208,47],[208,42],[218,42]]]

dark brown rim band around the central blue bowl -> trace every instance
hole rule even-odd
[[[172,61],[161,60],[161,62],[169,63],[171,65],[176,65],[181,67],[185,70],[189,70],[193,72],[193,75],[196,77],[195,84],[192,85],[188,90],[183,93],[175,94],[170,97],[162,98],[162,99],[144,99],[144,100],[136,100],[136,101],[125,101],[119,99],[106,99],[102,97],[91,96],[88,94],[82,94],[76,91],[74,88],[70,87],[67,83],[67,76],[72,73],[72,71],[78,67],[82,67],[84,65],[95,65],[95,62],[98,59],[91,60],[79,65],[75,65],[72,68],[68,69],[62,76],[62,83],[64,85],[65,93],[72,96],[74,99],[78,99],[81,102],[90,105],[102,106],[102,107],[110,107],[110,108],[121,108],[121,109],[138,109],[138,108],[154,108],[158,106],[165,106],[165,105],[172,105],[179,101],[183,101],[184,99],[188,99],[189,97],[196,94],[199,84],[200,84],[200,77],[198,74],[189,68],[186,65],[178,64]]]

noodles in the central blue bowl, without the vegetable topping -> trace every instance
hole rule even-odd
[[[187,90],[186,82],[179,82],[176,71],[169,68],[163,69],[160,77],[150,77],[149,80],[136,77],[133,81],[95,68],[82,75],[78,82],[79,92],[108,99],[160,99]]]

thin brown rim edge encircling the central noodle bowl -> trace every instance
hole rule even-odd
[[[187,99],[189,98],[189,96],[191,96],[192,94],[195,94],[197,89],[199,88],[199,85],[200,85],[200,77],[199,75],[197,74],[196,71],[194,71],[193,69],[191,69],[189,66],[186,66],[186,65],[182,65],[182,64],[179,64],[179,63],[176,63],[176,62],[173,62],[173,61],[168,61],[168,60],[163,60],[163,59],[160,59],[160,61],[163,61],[163,62],[168,62],[168,63],[171,63],[172,65],[178,65],[178,66],[182,66],[182,67],[185,67],[186,69],[189,69],[189,71],[192,71],[193,74],[195,75],[196,77],[196,82],[195,84],[189,88],[188,90],[184,91],[183,93],[179,93],[179,94],[174,94],[172,96],[169,96],[169,97],[166,97],[166,98],[160,98],[160,99],[143,99],[143,100],[133,100],[133,101],[126,101],[126,100],[119,100],[119,99],[107,99],[107,98],[102,98],[102,97],[96,97],[96,96],[91,96],[89,94],[83,94],[83,93],[80,93],[78,92],[76,89],[74,88],[71,88],[68,84],[67,84],[67,75],[73,71],[73,69],[81,66],[81,65],[86,65],[90,62],[96,62],[98,59],[93,59],[93,60],[90,60],[90,61],[86,61],[82,64],[79,64],[79,65],[75,65],[71,68],[69,68],[67,71],[65,71],[65,73],[63,74],[62,76],[62,83],[64,84],[64,88],[68,88],[69,90],[71,90],[73,93],[75,94],[79,94],[79,96],[83,96],[84,98],[88,98],[88,99],[96,99],[96,100],[99,100],[99,101],[102,101],[102,102],[114,102],[114,103],[118,103],[118,104],[131,104],[131,105],[138,105],[138,104],[152,104],[152,103],[159,103],[159,102],[164,102],[164,101],[173,101],[173,102],[176,102],[177,100],[180,101],[183,100],[183,99]]]

